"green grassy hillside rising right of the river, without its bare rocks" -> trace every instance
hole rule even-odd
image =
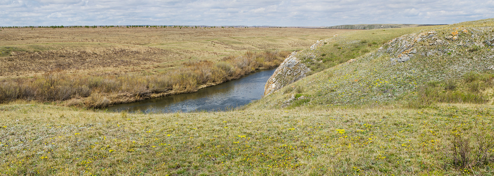
[[[474,24],[485,24],[484,21]],[[492,19],[489,22],[492,23]],[[494,37],[494,28],[469,27],[474,26],[471,25],[472,22],[466,24],[470,25],[408,28],[415,33],[433,30],[436,32],[434,37],[437,38],[416,42],[413,46],[417,50],[416,54],[410,61],[403,63],[391,61],[391,58],[397,58],[396,55],[385,52],[391,46],[372,44],[382,42],[386,38],[382,36],[392,36],[386,33],[401,35],[403,31],[369,30],[335,36],[326,45],[299,54],[300,57],[307,58],[305,62],[313,70],[330,67],[329,69],[295,82],[252,106],[280,107],[292,94],[310,98],[310,101],[300,100],[301,103],[295,103],[296,106],[388,104],[404,101],[407,105],[410,103],[410,106],[422,106],[421,103],[427,103],[413,102],[416,97],[428,98],[428,102],[487,103],[493,98],[493,71],[489,67],[494,65],[494,60],[490,58],[494,51],[485,40]],[[457,26],[464,27],[456,28]],[[451,33],[463,29],[468,34],[460,32],[457,40],[446,39],[452,36]],[[435,44],[437,39],[448,44]],[[364,40],[366,42],[362,42]],[[398,41],[400,42],[403,41]],[[377,51],[381,46],[382,50]],[[355,49],[354,53],[351,53],[352,49]],[[392,51],[391,54],[396,49]],[[352,57],[341,57],[345,55]],[[345,62],[349,59],[355,60]],[[331,67],[336,64],[339,65]],[[419,105],[412,105],[417,103]],[[293,106],[295,105],[290,107]]]

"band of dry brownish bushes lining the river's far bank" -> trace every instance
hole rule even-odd
[[[50,71],[42,76],[0,82],[0,103],[14,100],[105,107],[171,94],[195,92],[257,70],[278,66],[289,51],[246,52],[219,62],[195,61],[152,75],[76,75]]]

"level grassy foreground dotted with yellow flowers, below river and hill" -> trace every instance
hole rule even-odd
[[[474,155],[479,143],[493,145],[492,106],[126,114],[11,104],[0,112],[0,175],[440,176],[494,171],[494,165],[475,163],[479,156]],[[471,145],[468,169],[459,170],[454,163],[460,154],[454,153],[453,141],[459,138]],[[492,151],[481,154],[491,156]]]

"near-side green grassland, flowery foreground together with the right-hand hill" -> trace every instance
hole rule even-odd
[[[3,104],[0,175],[492,175],[492,26],[333,36],[299,53],[312,75],[226,112]]]

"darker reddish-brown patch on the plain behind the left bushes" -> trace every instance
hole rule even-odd
[[[51,70],[88,71],[153,65],[174,55],[165,49],[133,46],[84,47],[52,51],[12,51],[0,57],[0,76],[42,74]]]

